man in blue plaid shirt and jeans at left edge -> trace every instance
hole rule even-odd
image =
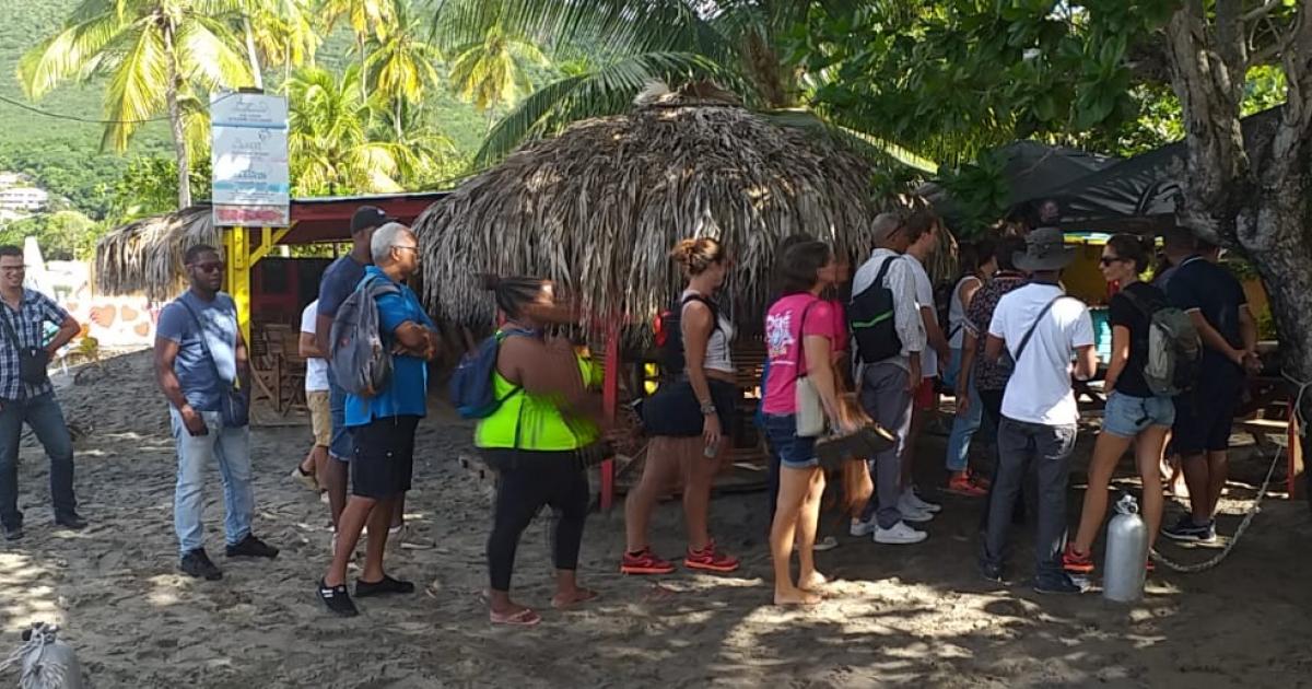
[[[45,375],[45,364],[81,328],[50,297],[25,289],[22,249],[0,247],[0,297],[4,298],[0,328],[0,521],[7,541],[22,538],[22,512],[18,511],[18,437],[22,424],[31,427],[50,457],[50,497],[55,524],[83,529],[73,497],[73,444],[64,424],[54,387]],[[45,325],[59,332],[46,341]],[[24,371],[24,357],[28,371]]]

